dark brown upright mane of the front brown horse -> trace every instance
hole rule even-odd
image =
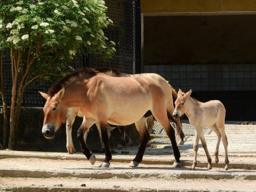
[[[84,78],[88,75],[97,74],[99,71],[93,69],[93,68],[82,68],[80,70],[76,70],[71,72],[70,74],[66,75],[65,77],[60,78],[58,81],[56,81],[52,87],[48,90],[48,95],[52,97],[56,93],[58,93],[63,87],[68,86],[72,82]]]

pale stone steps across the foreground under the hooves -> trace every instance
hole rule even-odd
[[[162,154],[169,148],[147,148],[148,154],[154,150]],[[95,154],[97,161],[91,165],[81,154],[0,151],[0,191],[255,190],[255,154],[230,156],[233,165],[227,171],[217,164],[207,170],[206,157],[198,157],[198,166],[191,171],[191,156],[182,156],[183,167],[173,168],[173,155],[145,154],[138,167],[129,167],[137,148],[125,152],[130,154],[118,151],[110,167],[101,168],[103,154]]]

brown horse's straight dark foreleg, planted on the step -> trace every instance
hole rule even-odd
[[[112,160],[112,154],[111,154],[110,145],[109,145],[108,122],[99,121],[99,125],[100,125],[102,141],[105,146],[105,159],[103,163],[100,165],[100,167],[109,167],[110,160]]]

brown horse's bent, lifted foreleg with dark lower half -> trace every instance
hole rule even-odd
[[[87,157],[87,159],[90,161],[90,163],[93,165],[96,161],[95,155],[89,150],[86,142],[83,139],[83,135],[86,132],[86,130],[89,130],[90,127],[96,122],[96,120],[87,119],[83,117],[82,124],[80,128],[77,131],[77,138],[79,140],[82,154]]]

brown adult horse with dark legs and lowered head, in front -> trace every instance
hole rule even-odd
[[[85,130],[99,122],[105,145],[105,159],[101,167],[109,167],[112,154],[109,146],[108,122],[128,125],[135,122],[141,144],[130,166],[138,166],[142,161],[150,135],[145,122],[148,114],[153,114],[169,137],[175,157],[173,166],[181,166],[180,152],[175,140],[175,131],[168,118],[174,119],[166,110],[166,95],[158,83],[147,77],[111,77],[94,69],[83,68],[53,84],[48,94],[40,92],[47,99],[44,106],[42,134],[53,138],[61,123],[66,120],[68,108],[79,108],[84,115],[77,132],[81,150],[94,164],[95,155],[90,152],[83,134]],[[136,110],[135,110],[136,109]]]

